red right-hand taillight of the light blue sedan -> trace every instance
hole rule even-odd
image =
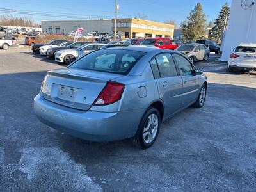
[[[99,96],[93,102],[93,106],[105,106],[121,99],[125,84],[108,81]]]

